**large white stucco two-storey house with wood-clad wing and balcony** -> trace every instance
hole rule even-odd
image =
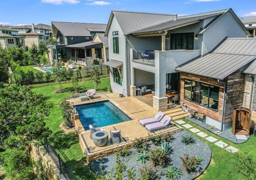
[[[160,111],[167,109],[169,84],[180,93],[180,102],[206,115],[206,123],[226,129],[233,108],[243,103],[242,68],[256,58],[253,45],[248,47],[251,51],[234,48],[254,44],[244,42],[246,35],[249,32],[232,9],[189,16],[112,11],[105,33],[112,91],[136,96],[136,88],[146,85],[154,89],[153,107]],[[236,44],[226,38],[242,39]],[[211,53],[216,48],[220,51]],[[221,58],[221,53],[230,55]],[[218,68],[222,66],[226,69]]]

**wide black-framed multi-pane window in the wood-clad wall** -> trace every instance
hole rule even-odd
[[[218,111],[219,87],[185,79],[184,99]]]

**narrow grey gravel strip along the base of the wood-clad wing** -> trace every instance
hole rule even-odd
[[[189,117],[186,117],[186,119],[188,119],[189,121],[192,121],[193,123],[197,124],[198,126],[201,126],[203,127],[204,129],[216,134],[215,132],[216,131],[220,131],[220,129],[218,128],[214,128],[214,129],[210,129],[210,125],[206,124],[206,123],[202,123],[202,121],[199,121],[197,119],[194,119],[194,118],[189,118]],[[231,142],[234,142],[236,144],[241,144],[241,143],[244,143],[246,142],[250,136],[246,135],[246,138],[247,140],[244,140],[244,139],[236,139],[236,135],[233,135],[232,134],[232,129],[228,129],[226,131],[222,131],[220,134],[216,134],[222,138],[225,138],[227,140],[230,140]]]

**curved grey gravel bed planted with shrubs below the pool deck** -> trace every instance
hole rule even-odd
[[[182,130],[173,134],[173,140],[172,142],[170,142],[173,148],[173,152],[170,154],[169,165],[175,166],[182,170],[183,175],[180,179],[192,180],[197,176],[199,176],[202,172],[204,172],[204,170],[210,163],[212,151],[207,144],[205,144],[202,140],[200,140],[196,136],[194,136],[196,143],[191,145],[184,144],[183,142],[181,142],[181,138],[183,135],[190,135],[190,133]],[[154,148],[154,144],[152,144],[152,142],[148,142],[148,143],[150,145],[150,148]],[[134,167],[134,169],[136,170],[136,179],[138,179],[140,177],[139,169],[142,168],[144,164],[140,161],[135,161],[138,155],[135,148],[130,148],[130,152],[131,152],[130,160],[128,161],[126,166],[127,166],[127,169]],[[195,172],[188,173],[184,170],[180,156],[184,156],[185,153],[188,154],[189,156],[198,156],[202,158],[202,161],[200,162],[200,165],[198,166],[198,168],[196,168]],[[126,157],[125,159],[127,160],[128,157]],[[146,164],[150,164],[149,160],[146,160]],[[110,170],[113,167],[115,167],[115,154],[111,154],[104,158],[100,158],[98,160],[90,162],[89,166],[97,174],[102,174],[99,166],[102,166],[102,170],[106,170],[107,172],[110,172]],[[160,174],[161,180],[167,179],[164,176],[164,169],[165,168],[158,168],[158,174]],[[124,177],[123,179],[127,179],[127,177]]]

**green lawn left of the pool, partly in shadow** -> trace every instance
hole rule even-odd
[[[50,141],[54,144],[56,152],[60,154],[62,160],[66,162],[80,180],[95,179],[87,166],[77,133],[74,133],[74,131],[64,133],[60,128],[63,119],[59,103],[61,99],[70,96],[74,89],[71,83],[67,83],[62,85],[63,89],[67,90],[66,93],[52,93],[58,90],[59,87],[59,85],[51,85],[32,88],[31,90],[36,93],[42,93],[46,96],[47,103],[50,104],[50,115],[46,121],[46,126],[53,131]],[[92,81],[86,81],[85,87],[86,89],[93,89]],[[99,89],[97,92],[110,92],[109,77],[102,78],[101,85],[98,85],[97,89]],[[82,82],[79,82],[79,90],[83,90]]]

